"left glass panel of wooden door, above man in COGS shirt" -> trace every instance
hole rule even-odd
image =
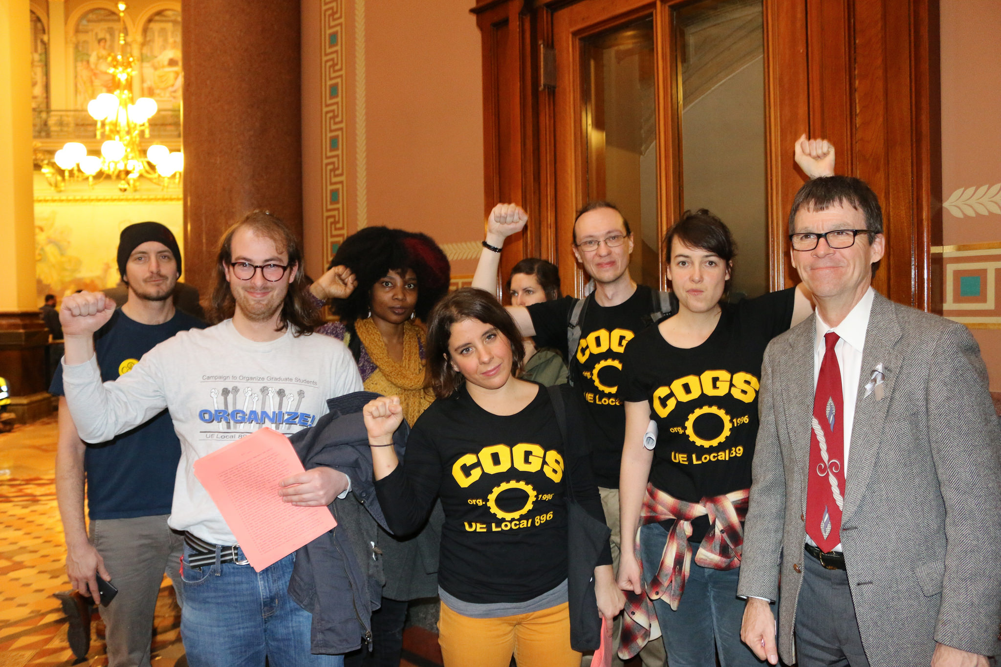
[[[654,19],[581,40],[586,200],[616,204],[636,241],[630,273],[660,284]]]

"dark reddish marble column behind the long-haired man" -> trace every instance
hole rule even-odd
[[[211,293],[216,245],[263,209],[302,237],[299,3],[182,0],[184,280]]]

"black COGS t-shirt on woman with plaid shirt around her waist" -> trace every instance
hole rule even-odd
[[[675,347],[657,327],[626,352],[623,400],[647,401],[657,422],[650,481],[689,502],[751,486],[758,435],[758,390],[765,348],[789,328],[796,289],[721,303],[716,329],[702,345]],[[692,540],[709,528],[693,522]]]

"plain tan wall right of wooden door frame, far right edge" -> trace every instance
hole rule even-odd
[[[978,199],[982,186],[1001,183],[999,32],[998,0],[941,0],[942,197],[946,202],[942,237],[946,246],[1001,247],[1001,214],[997,212],[1001,192],[990,198],[994,207],[987,197],[990,188],[980,196],[980,206],[970,202]],[[966,199],[969,188],[976,190]],[[960,189],[963,193],[952,199]],[[961,201],[968,202],[965,213],[956,206]],[[991,390],[1001,391],[1001,328],[970,326],[987,363]]]

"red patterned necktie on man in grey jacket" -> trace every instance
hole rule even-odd
[[[807,482],[807,535],[821,551],[841,542],[841,508],[845,495],[844,400],[841,369],[834,346],[838,334],[825,334],[827,351],[820,365],[810,429],[810,470]]]

